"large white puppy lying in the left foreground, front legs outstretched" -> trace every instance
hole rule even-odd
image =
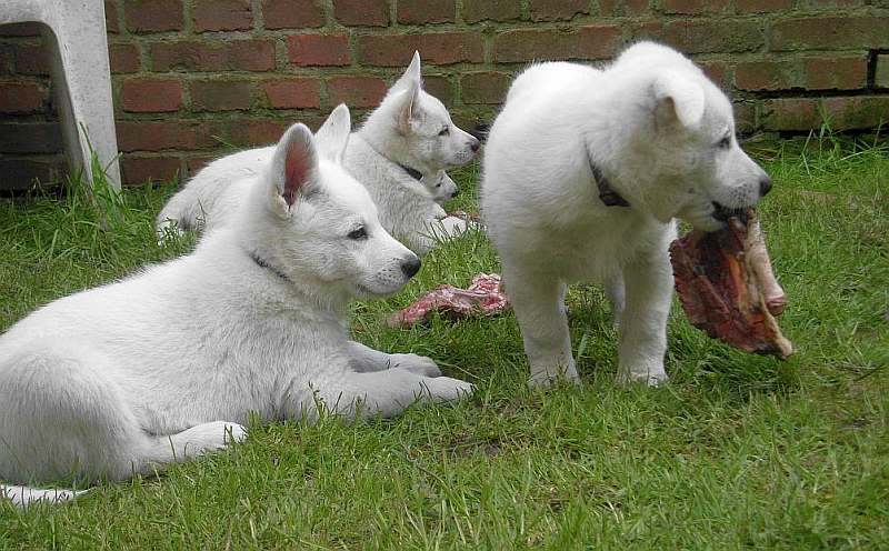
[[[60,299],[0,337],[0,479],[121,480],[242,439],[250,412],[392,415],[471,392],[429,358],[349,339],[349,301],[398,291],[420,261],[338,164],[349,111],[323,130],[291,127],[230,228],[194,253]]]

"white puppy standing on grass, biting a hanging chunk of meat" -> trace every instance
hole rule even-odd
[[[729,100],[670,48],[637,43],[602,70],[525,71],[488,137],[481,203],[530,382],[577,379],[562,308],[575,281],[608,283],[619,380],[666,380],[673,218],[716,230],[770,187],[738,146]]]

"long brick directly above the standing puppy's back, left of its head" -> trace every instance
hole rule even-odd
[[[615,24],[581,27],[568,32],[519,29],[496,37],[493,58],[497,62],[605,59],[615,54],[620,38],[620,27]]]

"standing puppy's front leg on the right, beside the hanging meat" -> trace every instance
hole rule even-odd
[[[618,381],[657,385],[667,381],[667,317],[672,298],[672,271],[667,251],[625,267],[627,305],[620,320]]]

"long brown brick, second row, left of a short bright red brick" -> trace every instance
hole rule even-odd
[[[158,42],[151,47],[151,59],[154,71],[271,71],[274,42]]]

